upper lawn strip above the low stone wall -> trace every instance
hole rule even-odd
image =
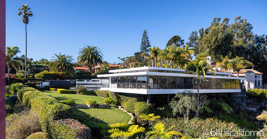
[[[101,97],[98,96],[88,96],[88,95],[76,95],[76,94],[59,94],[57,91],[42,91],[47,96],[54,97],[59,102],[62,102],[66,99],[73,99],[76,104],[85,104],[85,101],[88,99],[96,99],[99,104],[103,104],[103,100]]]

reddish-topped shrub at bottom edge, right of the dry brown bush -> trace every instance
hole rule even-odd
[[[74,119],[53,121],[49,124],[49,134],[60,139],[91,138],[90,129]]]

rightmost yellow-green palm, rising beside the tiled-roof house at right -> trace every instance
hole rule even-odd
[[[249,62],[248,60],[245,60],[244,57],[238,57],[236,56],[236,58],[233,58],[229,63],[228,63],[229,67],[231,69],[233,69],[233,71],[236,71],[236,77],[238,77],[239,71],[241,69],[245,69],[246,67],[252,67],[254,66],[251,62]]]

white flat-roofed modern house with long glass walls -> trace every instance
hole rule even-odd
[[[158,96],[166,97],[178,91],[192,90],[197,93],[197,78],[193,74],[186,74],[184,69],[139,67],[110,70],[111,74],[97,75],[108,78],[100,90],[109,90],[135,97],[145,97],[149,103],[157,101]],[[241,93],[241,80],[244,77],[232,77],[232,73],[216,72],[207,74],[201,79],[200,93]],[[162,95],[164,94],[164,95]],[[245,94],[244,94],[245,95]],[[242,96],[242,95],[237,95]]]

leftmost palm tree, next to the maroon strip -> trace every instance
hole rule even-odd
[[[20,63],[19,63],[19,57],[16,57],[18,53],[20,53],[20,48],[14,46],[14,47],[7,47],[6,49],[6,64],[7,64],[7,70],[8,70],[8,85],[9,85],[9,73],[12,67],[14,67],[17,71],[20,70]]]

